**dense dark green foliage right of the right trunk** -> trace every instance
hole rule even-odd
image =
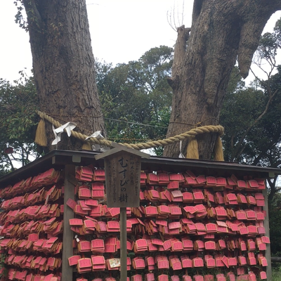
[[[268,81],[271,91],[277,92],[268,111],[259,121],[256,120],[268,103],[267,89],[252,85],[248,88],[238,87],[235,91],[226,93],[221,110],[221,124],[226,129],[223,136],[226,160],[235,159],[237,162],[261,166],[281,164],[280,75],[280,72],[277,72]],[[251,130],[244,136],[250,126]]]

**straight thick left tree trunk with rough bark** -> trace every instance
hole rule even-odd
[[[76,122],[81,133],[103,131],[85,0],[23,0],[27,12],[39,110],[61,124]],[[47,122],[48,123],[48,122]],[[48,149],[54,139],[47,124]],[[57,148],[81,149],[81,141],[63,138]]]

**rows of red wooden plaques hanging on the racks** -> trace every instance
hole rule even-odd
[[[110,267],[109,262],[115,257],[110,259],[110,256],[106,255],[119,255],[119,210],[106,206],[104,170],[93,166],[77,167],[76,178],[79,181],[75,189],[76,200],[67,202],[67,207],[73,209],[76,216],[70,221],[70,226],[74,235],[79,237],[79,242],[74,240],[74,256],[91,260],[91,266],[84,270],[83,264],[79,265],[80,259],[74,263],[70,262],[71,266],[84,273],[97,271],[98,268],[93,268],[91,256],[102,254],[103,258],[106,258],[105,272],[116,270]],[[27,264],[28,270],[36,268],[46,272],[60,268],[59,257],[55,258],[56,266],[50,266],[53,261],[39,255],[40,252],[47,255],[50,249],[53,254],[61,252],[62,239],[52,240],[62,233],[63,204],[56,203],[63,196],[63,186],[59,180],[60,173],[50,169],[34,178],[27,178],[1,189],[0,195],[5,200],[1,206],[4,214],[0,216],[0,232],[4,240],[0,245],[3,249],[8,249],[6,263],[9,266],[24,268]],[[263,270],[267,263],[264,251],[269,239],[265,236],[263,226],[266,216],[262,208],[264,197],[261,190],[265,188],[263,179],[250,176],[237,179],[234,175],[228,178],[195,176],[191,171],[184,174],[142,172],[141,187],[141,207],[127,208],[127,249],[135,252],[138,258],[128,261],[128,266],[133,270],[167,269],[162,268],[164,263],[160,262],[159,265],[156,259],[156,256],[161,256],[164,252],[165,255],[168,254],[168,268],[175,270],[175,273],[184,268],[221,266],[236,270],[236,275],[242,278],[249,275],[247,268],[259,266],[259,277],[266,279]],[[21,233],[20,238],[25,239],[14,237],[17,229]],[[39,233],[38,237],[35,237],[36,232]],[[47,235],[42,237],[43,233]],[[85,251],[80,245],[84,244],[83,242],[92,244],[92,240],[84,239],[87,235],[93,235],[95,239],[92,240],[101,238],[105,242],[104,247],[90,247],[89,251],[88,248]],[[116,239],[116,244],[106,243],[110,237]],[[223,242],[219,242],[220,237],[221,241],[230,237],[225,243],[226,247]],[[15,242],[16,240],[20,242]],[[146,244],[141,243],[142,240],[145,240]],[[160,242],[156,244],[155,240]],[[21,255],[30,249],[34,250],[34,256],[33,253]],[[257,250],[259,254],[254,253]],[[183,254],[177,254],[179,251],[183,251]],[[185,251],[187,254],[184,254]],[[234,251],[239,251],[240,255],[233,256]],[[250,252],[246,254],[244,251]],[[143,259],[143,254],[151,258],[150,264],[147,259]],[[154,265],[152,259],[155,260]],[[245,270],[242,272],[238,268]],[[10,270],[9,274],[17,280],[18,272],[21,271],[16,268],[14,271]],[[36,280],[39,276],[32,274],[26,274],[25,279]],[[251,278],[254,278],[253,274],[251,273]],[[20,276],[18,280],[25,280]],[[189,275],[185,276],[185,280],[188,280]],[[218,277],[223,280],[223,276]],[[59,280],[60,273],[57,271],[55,275],[49,274],[48,278]],[[200,280],[200,275],[194,275],[193,279],[195,278]],[[208,278],[211,278],[211,275]]]

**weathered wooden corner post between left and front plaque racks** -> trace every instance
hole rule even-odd
[[[65,166],[65,194],[63,200],[63,268],[62,280],[72,281],[72,267],[68,263],[68,258],[73,256],[73,232],[70,230],[70,218],[74,218],[74,212],[70,207],[67,207],[67,200],[74,200],[74,187],[75,187],[75,166]]]

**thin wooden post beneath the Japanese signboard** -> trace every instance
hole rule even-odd
[[[127,280],[127,230],[126,207],[120,208],[120,280]]]

